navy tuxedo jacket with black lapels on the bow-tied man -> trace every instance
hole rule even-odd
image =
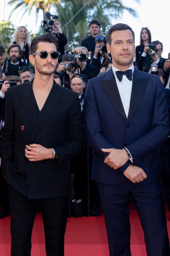
[[[119,184],[131,161],[113,170],[103,160],[108,153],[101,148],[126,147],[133,164],[147,174],[141,184],[162,176],[159,147],[169,134],[169,116],[165,90],[158,76],[135,68],[128,117],[125,115],[112,69],[88,81],[84,97],[86,142],[93,149],[92,179]]]

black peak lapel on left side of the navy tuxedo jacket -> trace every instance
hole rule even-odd
[[[101,86],[102,86],[103,90],[105,91],[107,97],[113,104],[113,106],[115,106],[115,108],[123,116],[123,118],[127,119],[125,110],[123,108],[123,104],[122,104],[122,101],[120,98],[120,94],[118,91],[118,86],[116,84],[116,80],[113,75],[113,71],[110,69],[110,71],[108,71],[107,73],[112,74],[112,76],[111,76],[110,80],[101,80],[100,81]]]

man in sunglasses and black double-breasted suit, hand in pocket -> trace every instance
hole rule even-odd
[[[38,205],[46,254],[64,256],[68,161],[84,150],[85,143],[78,94],[53,80],[57,49],[52,34],[35,37],[29,56],[35,78],[7,91],[1,162],[9,184],[12,256],[30,256]]]

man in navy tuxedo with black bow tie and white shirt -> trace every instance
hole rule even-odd
[[[93,149],[110,256],[130,256],[129,205],[140,216],[148,256],[169,256],[159,144],[169,116],[158,76],[134,68],[135,36],[126,24],[107,34],[113,66],[90,79],[84,97],[86,141]]]

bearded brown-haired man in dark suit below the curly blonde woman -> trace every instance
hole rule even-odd
[[[26,62],[21,61],[21,52],[21,48],[17,43],[13,43],[8,48],[8,61],[13,65],[18,66],[19,68],[23,66],[29,66],[29,64]]]

